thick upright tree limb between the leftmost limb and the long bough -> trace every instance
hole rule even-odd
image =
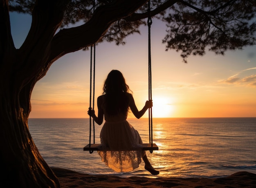
[[[32,12],[32,23],[29,33],[18,49],[18,57],[22,57],[16,63],[16,69],[29,74],[26,82],[33,77],[41,78],[46,74],[49,67],[47,65],[50,44],[54,34],[61,25],[63,11],[67,0],[36,0]],[[20,79],[22,80],[22,79]]]

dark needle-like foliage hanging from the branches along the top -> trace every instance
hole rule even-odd
[[[10,0],[10,11],[31,13],[36,0]],[[112,2],[99,0],[67,1],[61,27],[86,23],[97,7]],[[204,55],[209,49],[224,55],[227,50],[254,45],[256,41],[255,0],[151,0],[151,15],[166,23],[162,40],[166,50],[181,52],[186,62],[190,55]],[[125,38],[139,33],[148,17],[147,4],[128,17],[114,22],[98,41],[125,44]]]

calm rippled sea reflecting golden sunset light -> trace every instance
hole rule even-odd
[[[148,119],[128,121],[148,143]],[[89,118],[30,118],[29,131],[49,166],[95,175],[153,177],[144,170],[144,162],[130,173],[115,173],[97,151],[83,151],[89,144],[89,122]],[[101,127],[95,124],[95,143],[100,142]],[[153,142],[159,150],[147,155],[161,177],[256,173],[256,118],[153,118]]]

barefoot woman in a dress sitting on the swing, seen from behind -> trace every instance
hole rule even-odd
[[[103,116],[106,120],[101,129],[101,151],[98,153],[102,161],[116,172],[129,172],[138,168],[142,157],[145,169],[152,175],[158,175],[159,171],[151,166],[146,152],[142,151],[142,140],[138,131],[126,120],[129,109],[139,119],[153,103],[146,101],[139,111],[129,90],[123,74],[112,70],[104,83],[103,95],[97,98],[98,116],[93,109],[88,110],[88,115],[97,124],[102,124]]]

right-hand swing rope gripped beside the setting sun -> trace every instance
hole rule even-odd
[[[148,100],[152,100],[152,71],[151,71],[151,32],[150,27],[152,24],[150,13],[150,0],[148,1]],[[148,109],[148,130],[149,130],[149,143],[153,147],[153,121],[152,121],[152,107]],[[150,150],[153,153],[153,150]]]

